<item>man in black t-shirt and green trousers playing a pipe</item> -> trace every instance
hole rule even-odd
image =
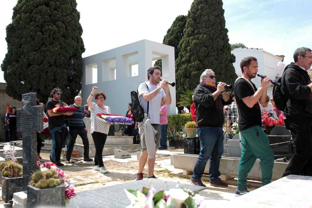
[[[260,105],[266,102],[266,87],[270,78],[261,78],[259,89],[251,82],[258,72],[258,62],[255,57],[245,57],[241,60],[241,78],[234,84],[234,94],[238,111],[238,127],[241,136],[241,159],[238,164],[238,180],[236,196],[248,193],[246,188],[247,175],[260,158],[262,185],[271,182],[274,164],[274,153],[270,147],[269,138],[261,129]]]

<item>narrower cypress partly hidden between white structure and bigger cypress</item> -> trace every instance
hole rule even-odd
[[[163,37],[163,44],[174,47],[175,60],[178,58],[180,52],[178,45],[183,37],[187,17],[186,15],[176,17],[171,27],[167,30],[167,34]],[[154,65],[161,67],[161,59],[157,60]]]

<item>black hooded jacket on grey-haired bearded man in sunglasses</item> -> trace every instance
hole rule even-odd
[[[223,106],[232,103],[232,98],[225,102],[222,95],[213,100],[214,91],[199,84],[194,91],[196,122],[198,127],[222,127],[224,124]]]

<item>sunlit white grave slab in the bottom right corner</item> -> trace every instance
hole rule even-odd
[[[312,207],[312,177],[289,175],[236,197],[224,207]]]

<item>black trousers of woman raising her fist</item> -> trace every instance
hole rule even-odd
[[[100,132],[93,132],[92,138],[95,146],[94,166],[103,167],[103,148],[106,142],[107,134]]]

